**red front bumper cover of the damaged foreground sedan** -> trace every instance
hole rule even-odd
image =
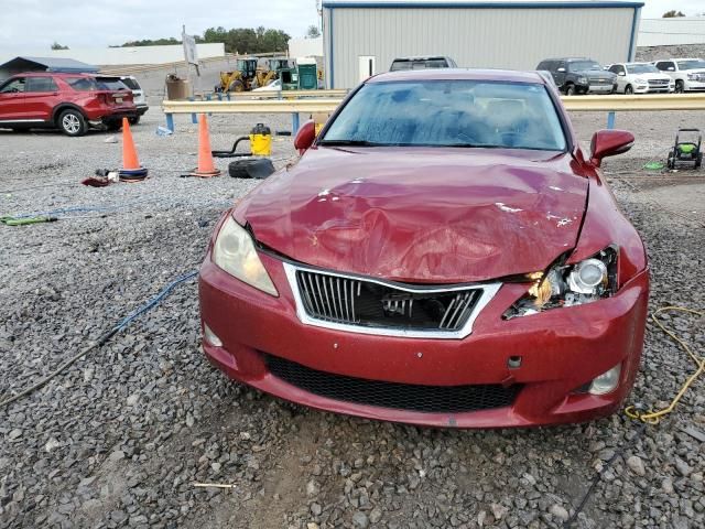
[[[260,253],[280,293],[273,298],[230,277],[210,260],[200,269],[204,324],[221,346],[207,341],[208,359],[230,378],[301,404],[339,413],[457,428],[529,427],[581,422],[615,412],[633,385],[643,345],[648,271],[617,295],[541,314],[501,319],[527,289],[506,283],[464,339],[364,335],[307,326],[296,316],[282,262]],[[274,376],[268,355],[311,370],[402,385],[521,385],[510,406],[479,411],[412,411],[332,399]],[[521,366],[510,367],[510,357]],[[516,360],[516,358],[514,358]],[[577,391],[621,365],[617,388],[605,396]]]

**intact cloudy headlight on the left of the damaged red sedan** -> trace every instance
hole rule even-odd
[[[251,287],[271,295],[279,295],[257,255],[252,237],[230,216],[223,223],[216,237],[213,262]]]

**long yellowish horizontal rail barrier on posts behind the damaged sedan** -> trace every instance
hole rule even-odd
[[[291,114],[293,133],[299,130],[300,114],[332,112],[343,97],[321,97],[323,93],[335,90],[311,90],[315,98],[297,99],[246,99],[206,101],[162,101],[166,115],[166,127],[174,130],[174,114]],[[251,94],[251,93],[250,93]],[[275,93],[279,94],[279,93]],[[288,94],[288,93],[284,93]],[[294,94],[292,90],[291,94]],[[271,96],[270,96],[271,97]],[[286,96],[284,96],[286,97]],[[293,96],[296,97],[296,96]],[[666,111],[666,110],[705,110],[705,93],[703,94],[662,94],[641,96],[562,96],[563,105],[568,111],[607,112],[607,128],[615,128],[616,112],[620,111]]]

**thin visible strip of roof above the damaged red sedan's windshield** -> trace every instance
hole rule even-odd
[[[545,79],[536,72],[513,69],[432,68],[405,69],[375,75],[366,83],[390,80],[502,80],[509,83],[533,83],[545,85]]]

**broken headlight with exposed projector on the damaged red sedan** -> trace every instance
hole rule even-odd
[[[505,313],[506,320],[609,298],[617,291],[617,249],[610,246],[575,264],[558,259],[547,271],[529,273],[527,279],[533,284]]]

